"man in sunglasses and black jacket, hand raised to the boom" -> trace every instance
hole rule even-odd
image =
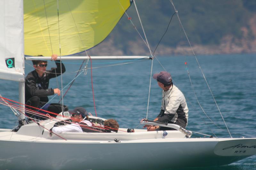
[[[42,55],[38,55],[42,56]],[[57,94],[60,96],[60,89],[58,88],[49,88],[49,80],[51,78],[55,78],[60,76],[61,73],[66,71],[63,63],[60,63],[60,60],[56,60],[58,55],[52,55],[52,60],[55,61],[56,68],[52,68],[51,70],[46,70],[47,61],[42,60],[32,60],[34,71],[28,73],[25,79],[25,102],[26,107],[28,109],[37,111],[36,108],[43,107],[48,101],[48,96]],[[30,107],[31,106],[31,107]],[[36,108],[33,108],[36,107]],[[63,106],[64,111],[68,110],[67,106]],[[61,105],[58,103],[46,104],[43,110],[47,110],[50,112],[54,112],[59,114],[62,109]],[[40,111],[41,112],[41,111]],[[43,112],[43,111],[42,111]],[[44,112],[44,114],[47,114]],[[26,113],[27,116],[39,120],[47,119],[45,116],[36,116],[30,113]],[[50,114],[51,116],[56,117],[54,114]],[[28,122],[28,121],[27,121]]]

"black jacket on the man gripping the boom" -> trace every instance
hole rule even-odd
[[[48,102],[49,99],[47,96],[53,95],[54,91],[49,87],[49,80],[60,76],[60,60],[56,60],[55,64],[57,68],[52,68],[51,70],[46,70],[43,76],[40,78],[36,70],[28,73],[25,79],[25,102],[28,101],[33,96],[38,96],[40,101]],[[62,73],[66,71],[65,66],[61,63]],[[56,72],[56,74],[55,74]]]

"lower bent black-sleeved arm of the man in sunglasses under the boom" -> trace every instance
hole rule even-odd
[[[36,79],[33,77],[26,78],[26,88],[31,96],[46,97],[54,94],[53,89],[37,89]]]

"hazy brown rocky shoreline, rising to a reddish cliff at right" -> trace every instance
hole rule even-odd
[[[256,55],[256,15],[252,16],[248,23],[249,27],[242,26],[240,30],[243,35],[240,39],[234,38],[233,35],[222,37],[219,45],[202,45],[193,44],[192,48],[196,55],[214,55],[214,54],[244,54],[251,53]],[[250,32],[250,31],[251,32]],[[115,35],[110,34],[106,40],[96,47],[88,50],[88,54],[94,56],[104,55],[150,55],[148,47],[141,39],[126,42],[126,46],[122,49],[117,48],[116,44],[122,42],[115,41]],[[180,43],[181,44],[181,43]],[[183,43],[185,44],[185,42]],[[160,44],[156,50],[156,56],[168,55],[193,55],[191,48],[187,45],[177,45],[170,47],[166,44]],[[154,51],[155,47],[151,47]]]

